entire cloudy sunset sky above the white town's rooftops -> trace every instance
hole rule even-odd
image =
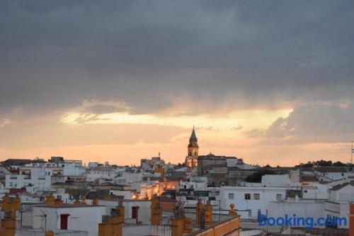
[[[0,1],[0,160],[350,162],[353,1]]]

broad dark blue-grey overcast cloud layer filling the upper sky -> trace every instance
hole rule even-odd
[[[1,1],[0,113],[353,99],[353,22],[353,1]]]

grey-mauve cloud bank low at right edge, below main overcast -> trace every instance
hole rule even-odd
[[[354,137],[354,104],[313,103],[297,106],[267,130],[250,130],[249,137],[263,137],[265,144],[349,142]]]

